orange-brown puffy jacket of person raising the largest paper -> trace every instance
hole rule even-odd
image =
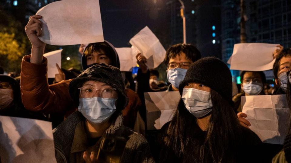
[[[71,80],[49,85],[47,82],[47,59],[40,64],[30,63],[30,55],[24,56],[21,65],[20,88],[22,102],[27,110],[42,113],[60,113],[64,118],[77,110],[69,94]],[[142,103],[138,95],[125,89],[129,104],[122,110],[124,126],[133,128],[136,114]]]

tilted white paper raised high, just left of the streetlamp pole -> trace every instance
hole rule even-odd
[[[147,58],[146,66],[150,69],[158,67],[165,59],[165,48],[148,26],[144,27],[138,34],[132,37],[129,43]]]

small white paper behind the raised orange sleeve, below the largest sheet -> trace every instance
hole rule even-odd
[[[57,63],[61,67],[61,60],[62,60],[61,53],[62,53],[62,49],[45,53],[43,55],[45,58],[48,59],[48,78],[55,78],[55,74],[59,73],[55,64]]]

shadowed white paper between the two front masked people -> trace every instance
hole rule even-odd
[[[148,130],[161,129],[169,122],[181,99],[179,91],[146,92],[146,123]]]

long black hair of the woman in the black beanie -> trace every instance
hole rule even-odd
[[[162,137],[164,148],[160,161],[165,162],[175,154],[182,162],[207,162],[209,157],[213,162],[236,162],[236,147],[241,140],[241,127],[231,104],[215,90],[211,90],[212,112],[205,139],[199,137],[202,133],[196,117],[184,106],[182,99]],[[205,152],[208,150],[208,152]]]

